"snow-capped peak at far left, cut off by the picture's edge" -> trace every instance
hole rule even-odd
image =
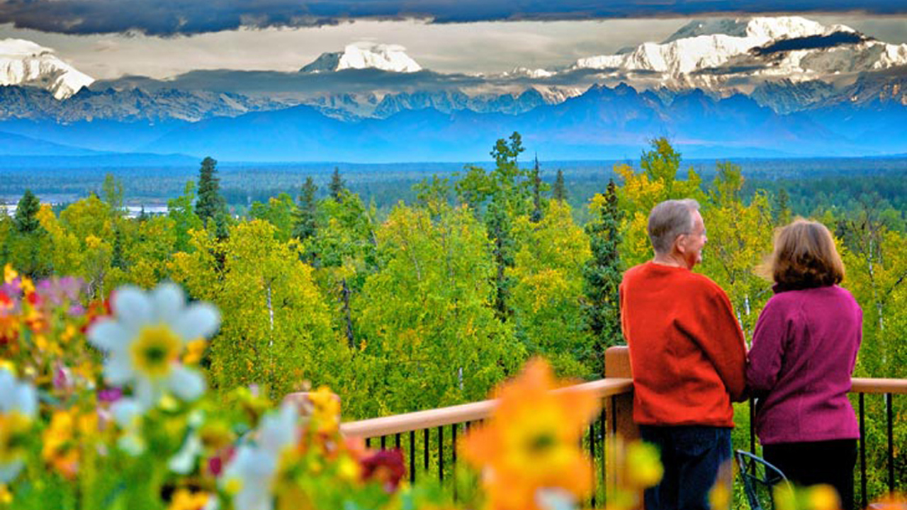
[[[0,40],[0,85],[39,87],[65,99],[93,81],[57,58],[50,48],[23,39]]]

